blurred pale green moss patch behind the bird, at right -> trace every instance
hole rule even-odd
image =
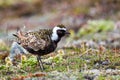
[[[113,30],[114,22],[110,20],[89,20],[87,26],[81,28],[77,35],[84,36],[91,33],[99,33]]]

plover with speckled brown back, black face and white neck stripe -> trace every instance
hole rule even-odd
[[[66,34],[70,34],[63,24],[58,24],[52,29],[39,29],[36,31],[22,32],[18,30],[13,34],[17,43],[31,54],[37,55],[40,69],[44,66],[41,56],[47,55],[57,48],[58,42]]]

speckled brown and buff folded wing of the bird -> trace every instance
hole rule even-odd
[[[29,47],[35,51],[43,50],[51,43],[50,31],[39,30],[28,32],[23,35],[23,38],[19,38],[19,42],[24,48]]]

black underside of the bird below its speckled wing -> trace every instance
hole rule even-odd
[[[49,53],[53,52],[56,49],[56,47],[57,47],[57,44],[52,43],[49,46],[45,47],[43,50],[39,49],[38,51],[35,51],[35,50],[33,50],[32,48],[29,48],[29,47],[25,47],[25,49],[28,52],[30,52],[31,54],[42,56],[42,55],[46,55],[46,54],[49,54]]]

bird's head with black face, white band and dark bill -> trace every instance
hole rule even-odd
[[[51,38],[52,38],[53,41],[59,42],[60,39],[63,36],[65,36],[66,34],[70,34],[70,33],[67,31],[67,29],[64,25],[60,24],[60,25],[57,25],[53,28]]]

